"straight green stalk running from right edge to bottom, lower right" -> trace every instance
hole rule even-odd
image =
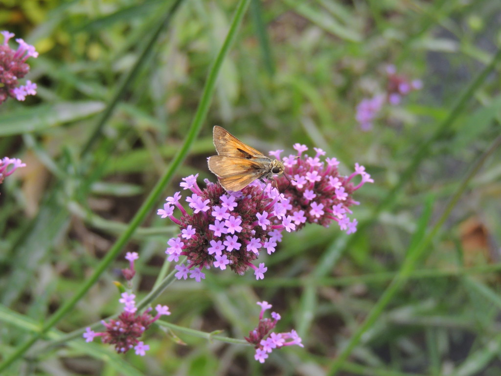
[[[409,278],[412,270],[416,266],[419,259],[422,258],[425,251],[428,250],[429,245],[435,239],[435,236],[438,234],[442,225],[445,223],[446,219],[449,217],[450,212],[456,206],[459,198],[462,196],[466,187],[468,185],[469,180],[471,180],[475,174],[480,170],[480,167],[483,165],[488,156],[490,156],[495,149],[497,149],[501,145],[501,136],[497,137],[489,149],[480,157],[480,159],[473,165],[471,171],[465,176],[461,185],[458,187],[454,196],[450,199],[449,203],[445,207],[445,210],[442,212],[442,215],[439,217],[437,223],[433,226],[428,235],[423,239],[423,241],[417,244],[415,247],[409,249],[408,256],[405,259],[400,271],[395,276],[395,278],[391,281],[388,288],[384,291],[381,298],[379,298],[376,305],[371,309],[364,323],[358,327],[356,332],[350,338],[350,341],[340,352],[338,357],[333,361],[331,368],[329,369],[328,374],[334,375],[343,367],[343,362],[348,358],[353,349],[357,346],[357,344],[362,339],[362,335],[374,325],[376,320],[382,314],[384,308],[391,301],[396,292],[403,286],[403,284]]]

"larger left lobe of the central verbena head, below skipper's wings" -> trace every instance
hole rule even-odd
[[[281,232],[296,229],[293,218],[288,215],[292,208],[289,200],[271,184],[257,180],[239,192],[227,193],[218,183],[205,180],[201,190],[196,175],[183,178],[181,187],[191,191],[186,198],[191,210],[187,212],[180,204],[181,194],[166,199],[163,209],[157,214],[168,217],[179,226],[181,232],[169,239],[165,253],[168,261],[187,257],[187,265],[177,265],[178,279],[190,278],[200,281],[205,278],[205,267],[229,267],[243,274],[254,269],[256,279],[263,279],[267,268],[264,263],[256,267],[256,260],[263,249],[272,254],[282,240]],[[180,218],[174,216],[177,208]]]

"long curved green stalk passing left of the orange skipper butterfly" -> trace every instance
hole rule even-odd
[[[180,0],[181,1],[181,0]],[[180,4],[180,1],[174,4],[174,7],[177,7]],[[175,171],[179,167],[179,165],[183,162],[188,154],[188,151],[193,144],[196,136],[198,135],[202,123],[205,120],[207,115],[209,105],[212,100],[212,93],[214,92],[215,82],[219,71],[221,69],[222,62],[224,57],[227,55],[229,51],[229,47],[231,43],[235,39],[236,30],[241,23],[245,10],[248,7],[250,0],[240,0],[238,7],[236,9],[235,15],[233,16],[233,20],[231,22],[230,29],[224,40],[224,43],[217,54],[215,61],[210,67],[207,81],[205,83],[202,97],[200,99],[200,103],[198,104],[195,116],[193,121],[188,129],[188,134],[184,140],[182,147],[179,149],[174,159],[171,161],[167,171],[165,174],[158,180],[157,184],[148,195],[147,199],[139,208],[138,212],[132,219],[127,230],[120,236],[120,238],[115,242],[110,251],[106,254],[103,260],[99,263],[94,273],[90,276],[87,282],[82,286],[82,288],[70,299],[67,300],[44,324],[41,328],[40,332],[31,337],[28,341],[19,346],[16,351],[14,351],[10,356],[6,357],[6,359],[0,364],[0,372],[6,369],[10,364],[19,359],[39,338],[41,338],[50,328],[52,328],[61,318],[63,318],[69,311],[75,306],[75,304],[87,293],[87,291],[94,285],[94,283],[98,280],[99,276],[109,267],[109,265],[113,262],[113,260],[117,257],[117,255],[121,252],[122,248],[128,242],[136,228],[142,223],[144,218],[151,212],[151,209],[155,205],[158,197],[164,191],[166,185],[174,175]],[[171,10],[172,12],[172,10]],[[149,296],[149,295],[148,295]],[[148,298],[148,297],[147,297]]]

